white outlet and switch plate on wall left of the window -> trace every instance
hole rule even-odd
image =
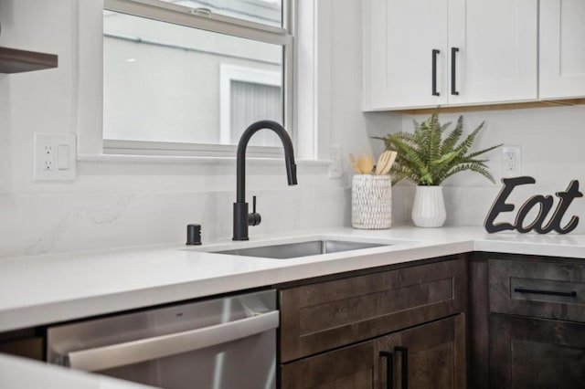
[[[35,133],[33,180],[75,180],[75,140],[71,133]]]

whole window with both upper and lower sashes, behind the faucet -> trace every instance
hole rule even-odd
[[[230,152],[253,121],[292,132],[286,0],[106,0],[105,152]],[[253,152],[280,145],[269,131]],[[292,133],[293,139],[295,134]],[[251,148],[250,148],[251,149]]]

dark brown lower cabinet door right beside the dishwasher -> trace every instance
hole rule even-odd
[[[359,343],[334,352],[281,365],[282,389],[373,388],[374,342]]]

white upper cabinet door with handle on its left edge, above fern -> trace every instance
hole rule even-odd
[[[536,100],[537,1],[449,4],[449,103]]]

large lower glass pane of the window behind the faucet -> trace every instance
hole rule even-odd
[[[283,122],[282,46],[111,11],[103,20],[104,139],[233,144],[252,121]]]

